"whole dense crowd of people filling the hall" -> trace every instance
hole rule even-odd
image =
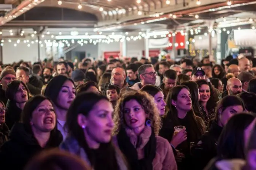
[[[255,170],[256,61],[0,67],[1,170]]]

